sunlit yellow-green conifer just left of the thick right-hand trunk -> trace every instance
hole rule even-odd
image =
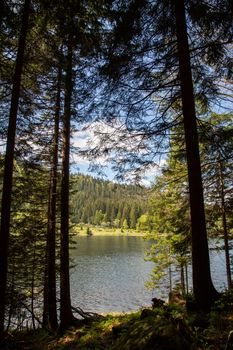
[[[166,165],[156,177],[149,198],[153,230],[148,233],[148,239],[152,239],[153,244],[148,258],[156,264],[150,286],[157,286],[168,275],[169,283],[166,285],[170,285],[170,291],[176,282],[185,293],[188,291],[187,264],[191,246],[191,225],[187,170],[180,146],[181,142],[173,136]],[[172,276],[174,268],[180,270],[180,279],[177,281]]]

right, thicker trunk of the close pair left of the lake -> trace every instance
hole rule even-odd
[[[65,101],[63,120],[62,181],[61,181],[61,251],[60,251],[60,329],[69,327],[74,320],[70,299],[69,271],[69,157],[70,157],[70,119],[72,100],[73,48],[68,43],[65,79]]]

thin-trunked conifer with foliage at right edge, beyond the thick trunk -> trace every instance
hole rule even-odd
[[[229,217],[231,210],[230,196],[232,183],[229,174],[232,172],[232,128],[231,113],[207,116],[200,133],[201,156],[203,158],[203,175],[205,196],[209,203],[207,221],[210,233],[222,234],[226,257],[228,288],[231,288],[231,264],[229,247]]]

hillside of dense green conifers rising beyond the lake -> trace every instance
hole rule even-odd
[[[86,175],[72,176],[71,220],[109,227],[136,228],[147,211],[148,190]]]

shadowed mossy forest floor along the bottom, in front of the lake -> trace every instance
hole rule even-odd
[[[187,311],[184,304],[164,304],[135,313],[106,315],[78,321],[63,335],[45,330],[12,334],[7,350],[230,350],[233,293],[209,313]]]

